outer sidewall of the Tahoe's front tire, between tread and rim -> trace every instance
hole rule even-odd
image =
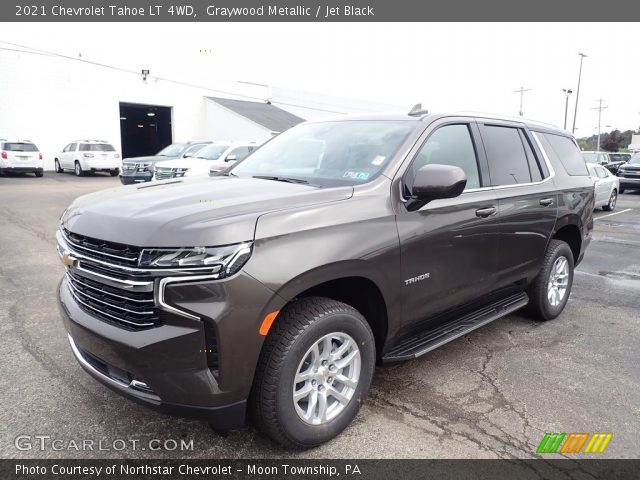
[[[360,379],[351,401],[336,418],[324,425],[310,425],[295,410],[292,398],[293,380],[302,356],[315,342],[329,333],[346,333],[357,342],[361,360]],[[356,416],[367,395],[373,378],[375,355],[373,334],[366,321],[350,312],[330,313],[306,328],[287,353],[280,376],[282,381],[276,393],[276,412],[285,435],[298,444],[313,446],[342,432]]]

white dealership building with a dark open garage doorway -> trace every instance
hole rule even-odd
[[[83,58],[0,49],[0,138],[29,139],[45,169],[67,143],[99,139],[126,156],[193,139],[264,142],[301,121],[397,110],[244,82],[199,85]]]

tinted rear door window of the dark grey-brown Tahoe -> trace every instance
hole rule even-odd
[[[529,162],[519,129],[486,125],[482,139],[487,150],[491,185],[531,182]]]

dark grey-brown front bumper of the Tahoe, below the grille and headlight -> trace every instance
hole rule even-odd
[[[136,331],[90,315],[67,282],[65,277],[59,286],[60,314],[74,356],[91,376],[162,412],[206,420],[221,430],[244,425],[264,340],[259,323],[271,291],[242,272],[226,281],[170,284],[166,301],[200,318],[164,312],[161,325]],[[217,370],[207,363],[207,323],[215,330]]]

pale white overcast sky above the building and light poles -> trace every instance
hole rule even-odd
[[[33,23],[0,24],[20,43],[152,75],[215,85],[267,85],[431,112],[523,112],[575,135],[637,129],[633,23]],[[3,47],[0,43],[0,47]],[[1,69],[1,66],[0,66]],[[1,72],[0,72],[1,73]]]

